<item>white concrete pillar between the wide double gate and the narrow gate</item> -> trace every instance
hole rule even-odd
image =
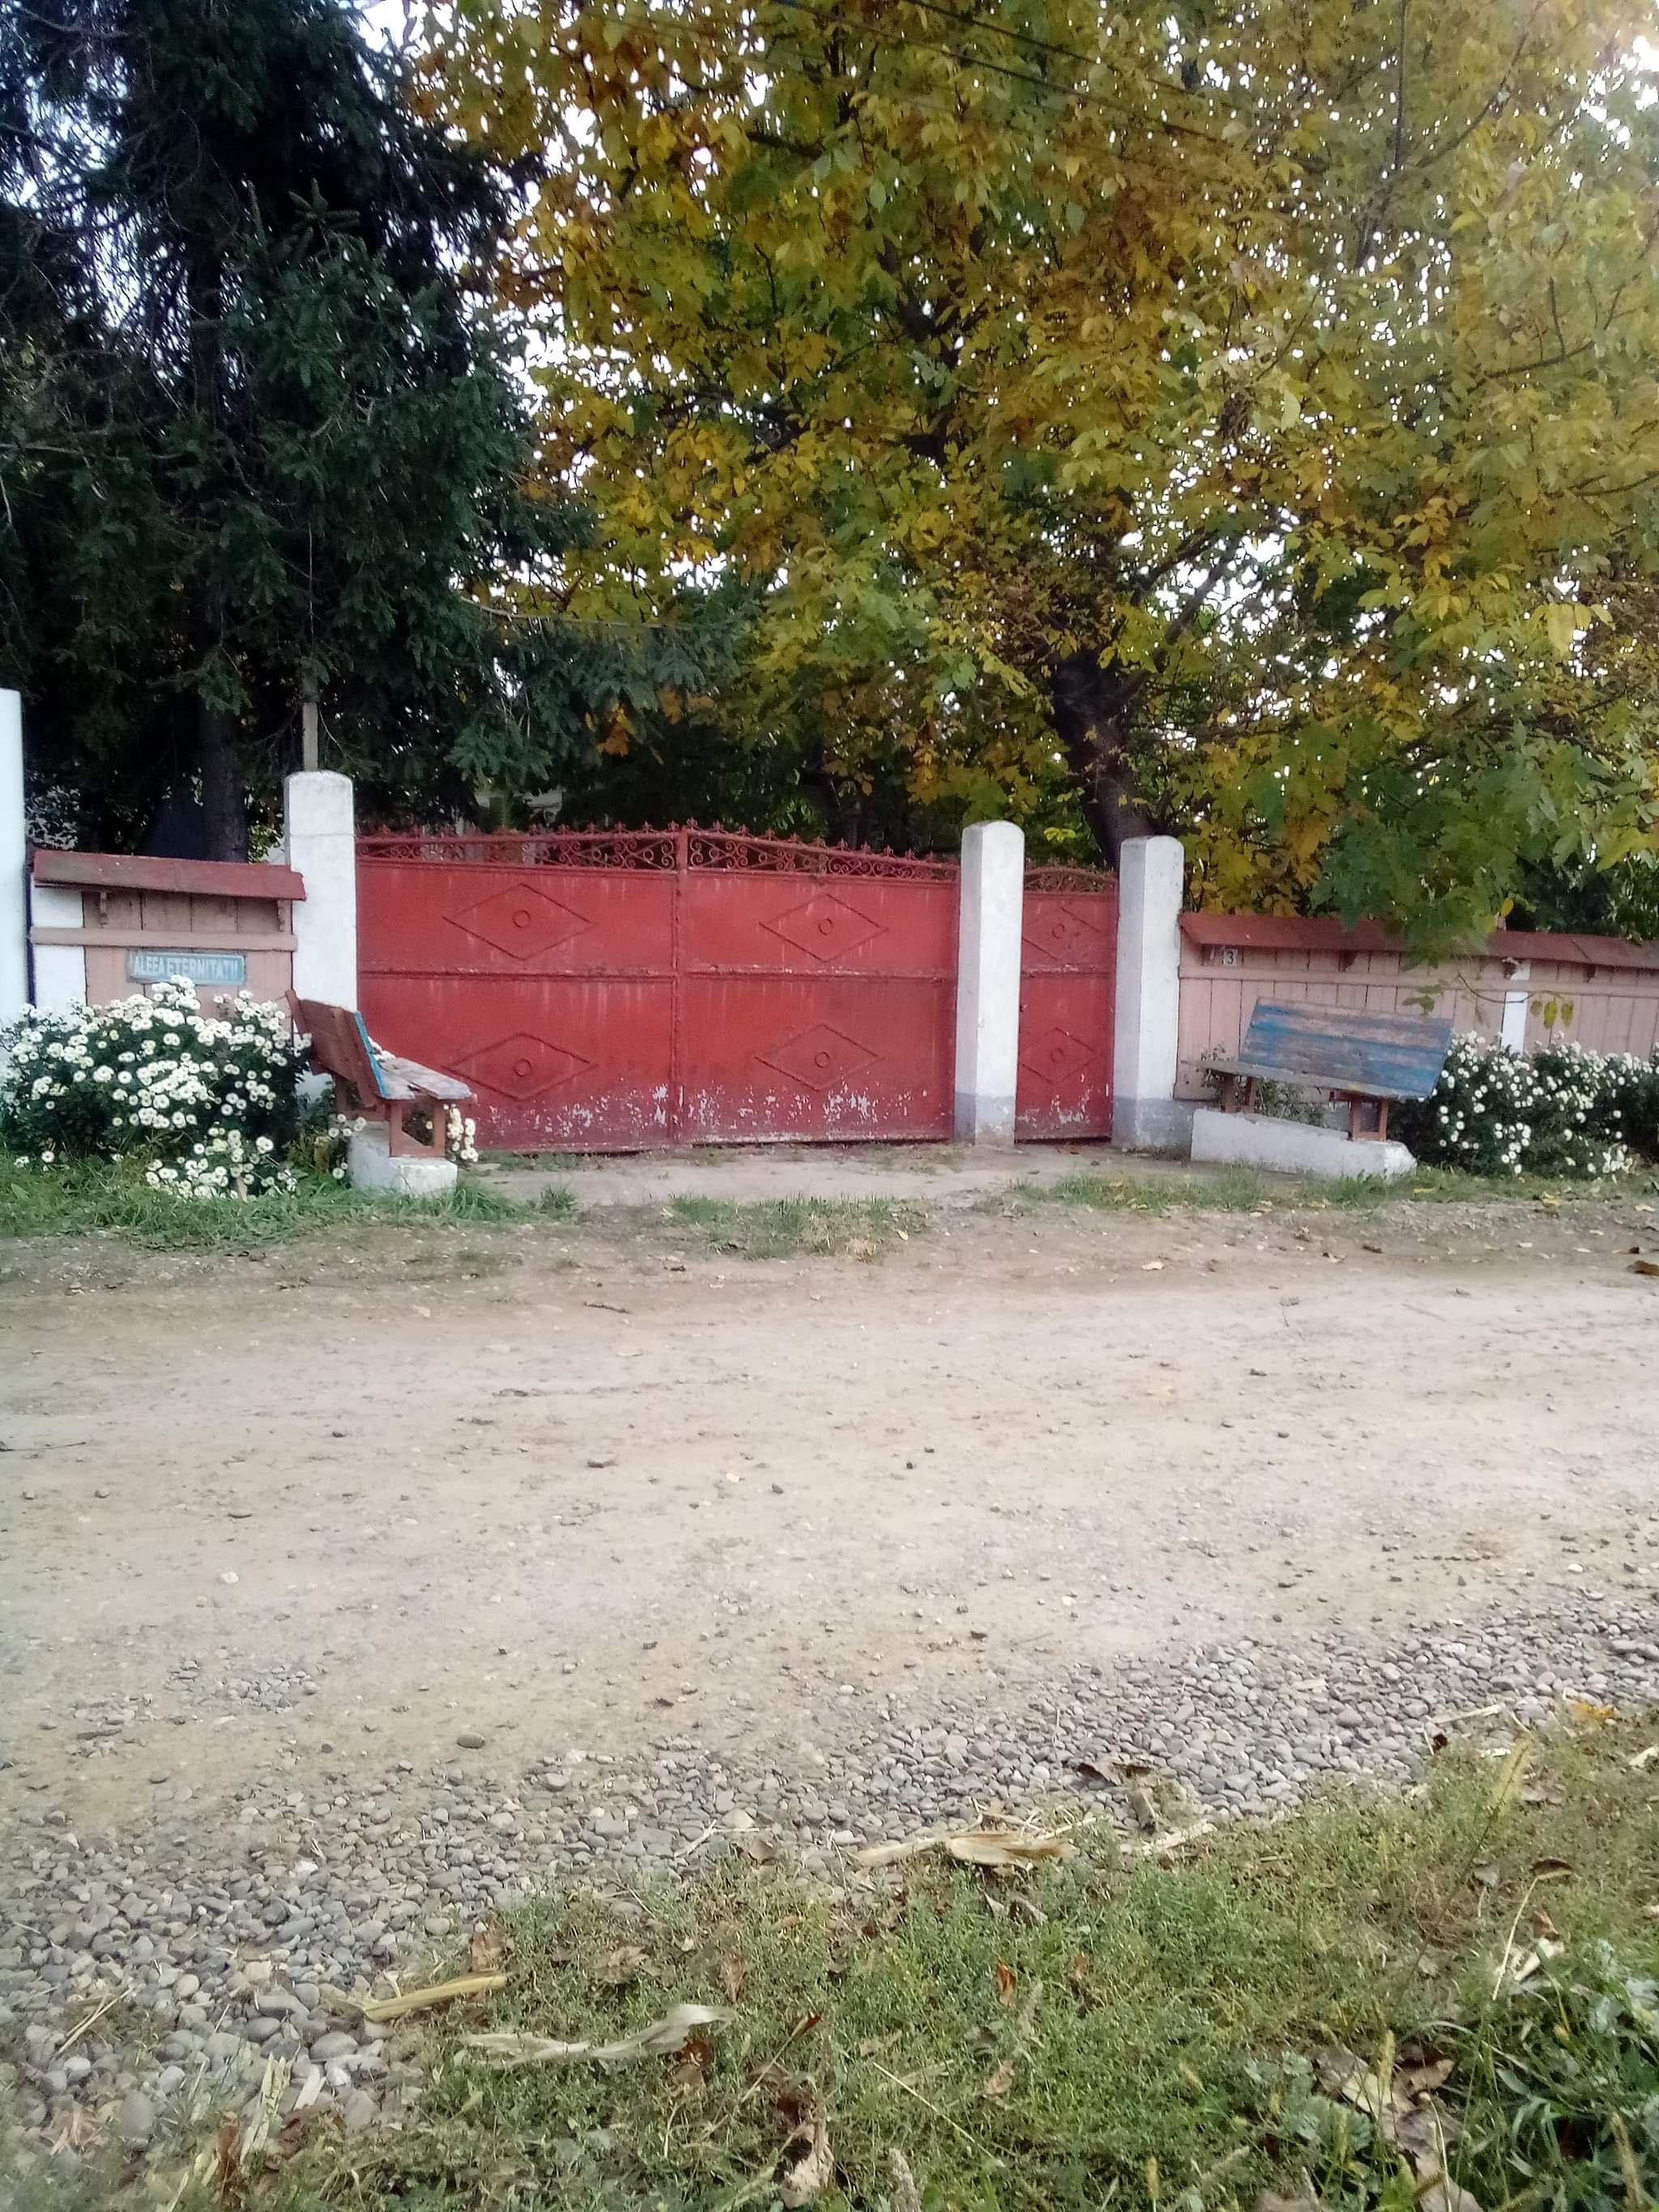
[[[1024,905],[1024,832],[973,823],[962,832],[956,940],[956,1135],[964,1144],[1013,1144]]]

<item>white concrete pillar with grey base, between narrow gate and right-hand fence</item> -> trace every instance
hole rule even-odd
[[[1117,856],[1113,1144],[1186,1144],[1192,1121],[1192,1110],[1175,1104],[1183,872],[1172,836],[1130,838]]]

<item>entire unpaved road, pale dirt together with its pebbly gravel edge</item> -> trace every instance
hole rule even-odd
[[[1659,1703],[1650,1223],[15,1248],[22,2117],[159,2143],[279,2059],[288,2106],[396,2121],[418,2055],[354,2000],[568,1874],[834,1869],[1057,1798],[1272,1812],[1440,1732]]]

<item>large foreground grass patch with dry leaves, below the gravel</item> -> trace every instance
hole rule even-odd
[[[431,2084],[403,2130],[321,2128],[250,2203],[774,2208],[823,2117],[823,2212],[891,2208],[894,2150],[938,2212],[1243,2212],[1263,2188],[1413,2212],[1422,2172],[1321,2055],[1345,2046],[1387,2077],[1449,2062],[1433,2112],[1489,2212],[1635,2208],[1659,2181],[1639,1743],[1553,1739],[1498,1812],[1498,1767],[1449,1754],[1420,1794],[1234,1827],[1172,1867],[1091,1827],[1015,1878],[929,1858],[847,1889],[719,1869],[644,1911],[553,1898],[509,1920],[487,2013],[400,2031]],[[1513,1989],[1544,1905],[1566,1949]],[[613,2070],[465,2048],[482,2024],[624,2035],[675,2002],[730,2020]]]

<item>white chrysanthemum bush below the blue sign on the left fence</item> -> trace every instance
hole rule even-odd
[[[179,1197],[292,1190],[303,1051],[283,1006],[239,993],[208,1015],[184,978],[150,998],[29,1009],[0,1040],[0,1144],[22,1161],[146,1161]]]

